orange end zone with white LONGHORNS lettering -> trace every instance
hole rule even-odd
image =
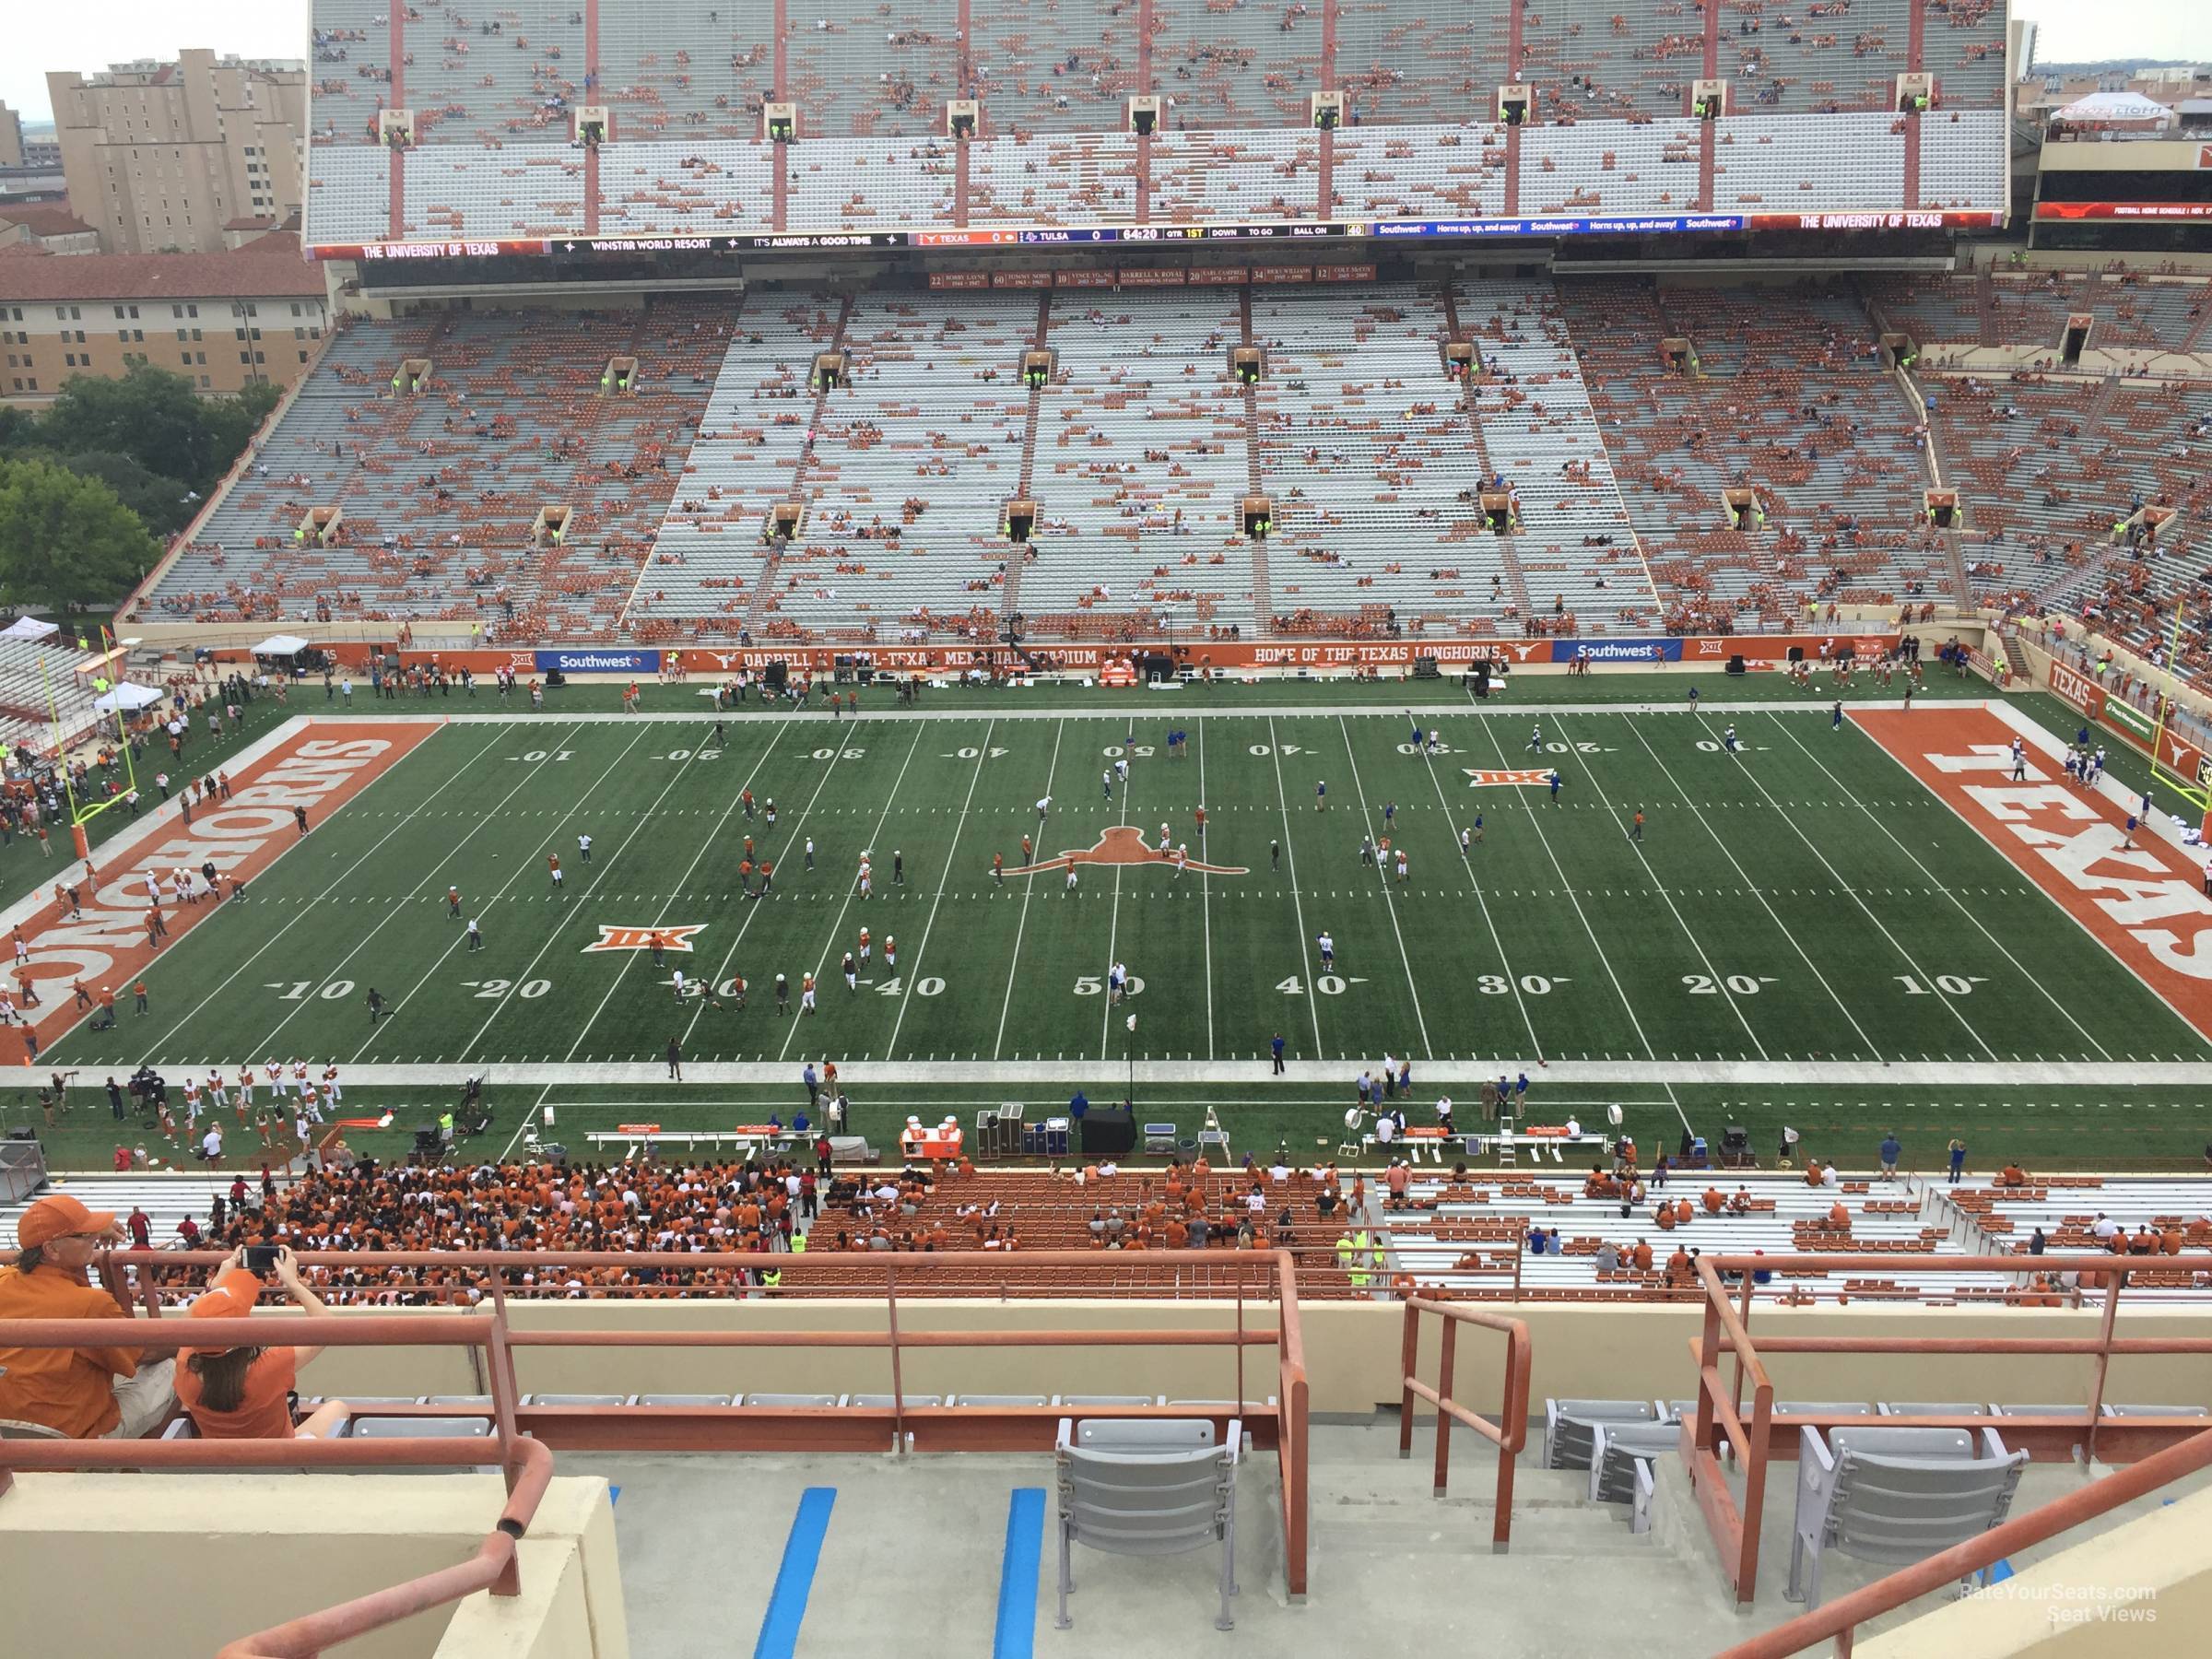
[[[108,987],[117,1009],[131,1006],[131,982],[146,964],[221,905],[208,894],[201,894],[197,905],[173,902],[168,891],[175,869],[190,869],[197,878],[199,867],[212,863],[226,880],[239,876],[250,887],[301,841],[294,807],[307,810],[307,832],[314,834],[332,812],[367,790],[436,730],[434,721],[307,723],[232,774],[230,799],[197,807],[190,825],[184,821],[181,799],[153,807],[148,816],[159,827],[142,832],[128,849],[106,854],[108,863],[88,885],[80,883],[84,914],[77,920],[62,920],[62,902],[49,898],[22,922],[20,933],[31,947],[31,960],[9,971],[9,991],[15,991],[18,978],[29,978],[38,991],[38,1006],[24,1011],[24,1024],[9,1026],[7,1048],[0,1053],[33,1064],[29,1033],[35,1033],[38,1046],[44,1048],[77,1020],[91,1018],[93,1011],[77,1006],[73,993],[80,982],[95,1004],[102,987]],[[148,874],[161,880],[161,920],[168,938],[159,945],[148,938]],[[246,902],[252,902],[250,891]]]

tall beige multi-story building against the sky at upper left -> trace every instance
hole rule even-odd
[[[226,226],[283,223],[305,199],[307,69],[217,58],[51,71],[69,208],[111,254],[217,252]]]

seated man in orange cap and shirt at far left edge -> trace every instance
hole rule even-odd
[[[40,1199],[15,1223],[22,1252],[0,1267],[0,1318],[131,1318],[84,1283],[104,1243],[128,1243],[113,1212]],[[137,1438],[177,1402],[170,1358],[137,1347],[0,1347],[0,1418],[42,1422],[71,1440]]]

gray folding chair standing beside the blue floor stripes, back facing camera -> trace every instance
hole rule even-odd
[[[1071,1628],[1071,1546],[1106,1555],[1181,1555],[1221,1544],[1217,1630],[1234,1630],[1237,1455],[1243,1422],[1223,1442],[1203,1418],[1060,1420],[1060,1617]]]

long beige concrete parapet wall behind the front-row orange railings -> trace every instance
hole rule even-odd
[[[664,1301],[664,1303],[511,1303],[518,1329],[883,1329],[878,1303],[858,1301]],[[1694,1387],[1688,1343],[1701,1329],[1694,1305],[1528,1303],[1535,1345],[1533,1398],[1686,1398]],[[1367,1416],[1398,1400],[1402,1314],[1389,1303],[1307,1303],[1305,1365],[1312,1409]],[[434,1312],[422,1318],[438,1318]],[[1234,1305],[1130,1301],[907,1301],[900,1329],[1097,1329],[1144,1327],[1230,1329]],[[1250,1307],[1250,1325],[1272,1325],[1272,1307]],[[1759,1310],[1752,1336],[2095,1336],[2095,1310],[1962,1312],[1951,1307],[1774,1307]],[[2212,1334],[2212,1310],[2121,1314],[2121,1336]],[[1504,1338],[1462,1332],[1455,1391],[1493,1409],[1504,1371]],[[544,1349],[515,1358],[524,1389],[557,1394],[737,1394],[887,1391],[883,1352],[807,1349]],[[1820,1400],[2088,1400],[2090,1363],[1989,1356],[1792,1356],[1767,1365],[1785,1398]],[[1436,1378],[1436,1323],[1425,1321],[1420,1374]],[[1234,1394],[1234,1360],[1190,1347],[995,1347],[931,1349],[902,1358],[909,1394],[1166,1394],[1223,1398]],[[301,1378],[301,1394],[473,1394],[482,1391],[469,1349],[334,1347]],[[1245,1394],[1274,1394],[1274,1352],[1248,1349]],[[2212,1405],[2212,1367],[2188,1356],[2112,1360],[2106,1398]]]

